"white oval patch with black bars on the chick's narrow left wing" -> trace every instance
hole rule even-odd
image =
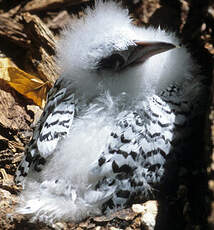
[[[74,108],[74,94],[66,95],[65,88],[49,98],[45,108],[47,115],[44,114],[41,120],[41,131],[37,139],[38,151],[44,158],[49,156],[56,149],[59,140],[68,134]]]

